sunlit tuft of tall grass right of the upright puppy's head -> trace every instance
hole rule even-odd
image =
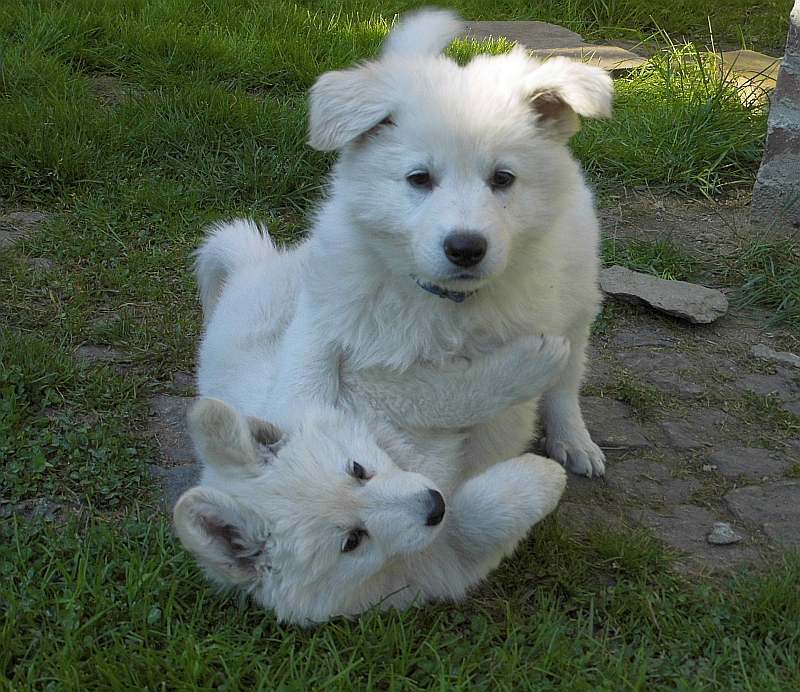
[[[655,186],[710,196],[751,185],[766,114],[744,104],[714,55],[672,46],[617,80],[615,115],[588,123],[575,150],[599,187]]]

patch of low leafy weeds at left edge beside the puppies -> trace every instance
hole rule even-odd
[[[126,434],[137,384],[87,372],[52,342],[1,333],[0,496],[101,508],[141,497],[147,448]]]

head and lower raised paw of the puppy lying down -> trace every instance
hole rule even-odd
[[[189,423],[204,473],[175,506],[178,536],[212,581],[301,625],[461,598],[553,510],[566,480],[524,455],[445,501],[377,443],[376,431],[394,434],[375,421],[329,410],[283,433],[205,398]]]

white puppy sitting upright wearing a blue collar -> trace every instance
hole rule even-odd
[[[612,82],[521,48],[460,67],[440,54],[460,30],[448,12],[412,15],[377,60],[311,91],[310,143],[340,155],[303,247],[282,408],[358,392],[414,434],[459,428],[477,471],[525,449],[541,403],[549,455],[602,475],[578,403],[599,233],[567,142],[579,116],[610,114]],[[455,420],[382,394],[402,391],[415,365],[468,363],[534,333],[566,337],[570,352],[555,384],[522,403]]]

